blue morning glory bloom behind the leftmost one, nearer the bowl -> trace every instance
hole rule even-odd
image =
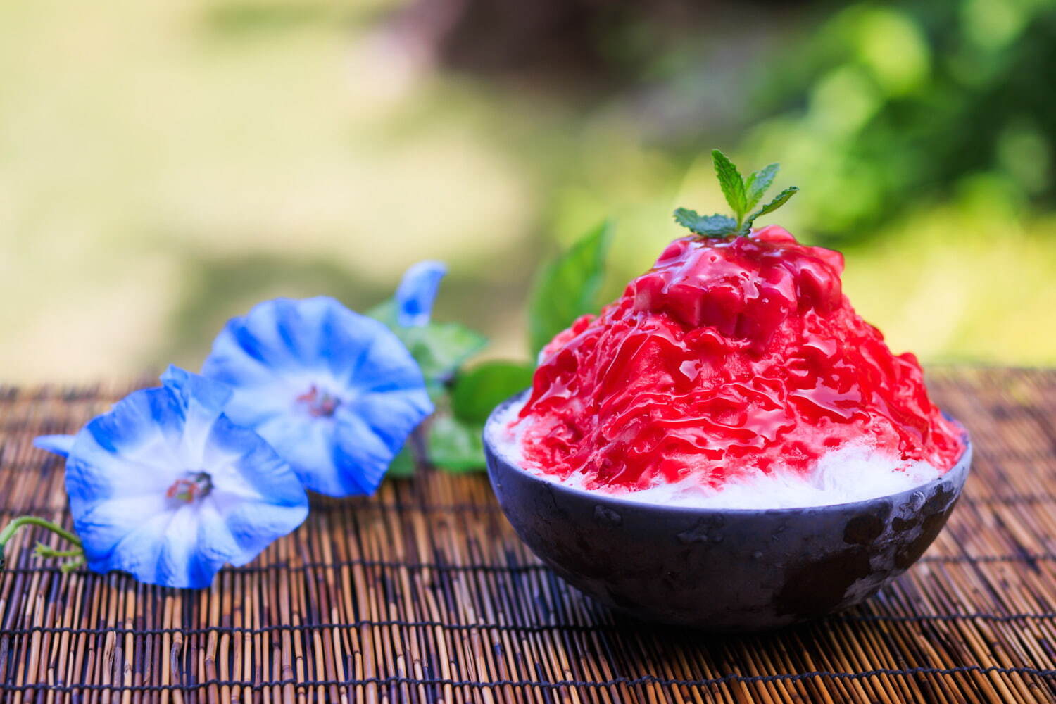
[[[382,323],[331,298],[278,299],[234,318],[202,374],[234,388],[225,413],[331,496],[372,494],[433,405]]]

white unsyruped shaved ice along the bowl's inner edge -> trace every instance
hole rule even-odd
[[[939,471],[927,462],[910,462],[907,465],[902,459],[878,452],[863,441],[825,455],[809,476],[791,471],[760,472],[749,480],[730,481],[720,489],[711,489],[701,486],[699,478],[691,474],[675,483],[636,491],[623,488],[584,490],[586,477],[582,473],[560,479],[524,461],[521,443],[526,423],[511,427],[523,405],[524,401],[511,404],[488,426],[491,445],[507,461],[554,483],[604,493],[623,500],[702,509],[798,509],[887,496],[920,487],[940,476]]]

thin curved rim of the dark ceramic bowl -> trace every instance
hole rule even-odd
[[[505,411],[507,407],[520,401],[523,397],[527,396],[531,392],[531,387],[518,392],[506,399],[494,408],[488,415],[488,420],[485,421],[483,439],[485,448],[485,458],[488,460],[488,474],[492,474],[492,458],[495,461],[501,461],[511,469],[513,469],[521,476],[530,479],[534,482],[545,484],[551,488],[553,491],[559,493],[567,494],[571,497],[581,500],[590,500],[595,503],[608,503],[615,508],[627,510],[650,510],[659,511],[661,513],[681,513],[681,514],[694,514],[700,516],[709,515],[752,515],[752,514],[770,514],[770,515],[780,515],[780,514],[800,514],[805,511],[846,511],[854,507],[869,507],[878,501],[893,501],[901,496],[909,496],[916,492],[927,493],[927,490],[934,487],[938,487],[941,483],[954,481],[956,483],[961,483],[961,489],[963,489],[963,480],[958,475],[964,475],[963,479],[967,479],[968,472],[972,469],[972,437],[968,434],[967,429],[956,418],[948,415],[944,411],[941,411],[943,417],[945,417],[950,422],[955,423],[957,427],[961,430],[961,440],[964,443],[964,450],[961,452],[961,456],[957,458],[954,465],[949,468],[944,474],[926,481],[922,484],[917,484],[916,487],[909,487],[908,489],[903,489],[901,491],[894,492],[893,494],[882,494],[880,496],[874,496],[871,498],[859,499],[856,501],[844,501],[842,503],[825,503],[821,506],[802,506],[802,507],[784,507],[776,509],[733,509],[733,508],[721,508],[721,507],[697,507],[697,506],[674,506],[670,503],[653,503],[649,501],[637,501],[635,499],[622,498],[620,496],[611,496],[608,494],[602,494],[600,492],[592,492],[586,489],[578,489],[576,487],[568,487],[560,483],[553,479],[548,479],[542,477],[538,474],[533,474],[521,467],[518,462],[513,461],[513,458],[509,457],[507,453],[502,452],[492,444],[490,435],[492,429],[496,422],[498,422],[498,415]],[[958,490],[957,495],[960,495],[961,490]]]

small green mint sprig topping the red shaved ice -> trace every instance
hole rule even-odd
[[[774,177],[777,176],[777,170],[780,167],[771,164],[758,171],[753,171],[748,175],[748,178],[744,178],[733,161],[719,150],[712,150],[712,160],[715,163],[715,175],[719,178],[722,195],[725,196],[727,203],[733,209],[734,217],[719,214],[701,215],[696,210],[677,209],[675,222],[696,234],[705,237],[746,235],[752,231],[752,224],[756,217],[777,210],[799,190],[795,186],[789,186],[773,201],[750,213],[773,185]]]

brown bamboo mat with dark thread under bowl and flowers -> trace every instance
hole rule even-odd
[[[8,549],[4,702],[1054,702],[1056,370],[940,368],[976,464],[946,530],[863,607],[750,636],[628,622],[521,545],[486,477],[419,473],[207,590],[61,574]],[[31,445],[126,389],[0,388],[0,509],[65,521]],[[53,545],[57,545],[54,544]]]

